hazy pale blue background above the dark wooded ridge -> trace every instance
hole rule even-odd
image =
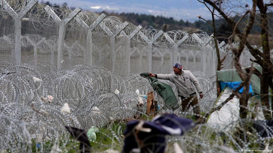
[[[175,20],[194,22],[201,15],[205,19],[211,19],[211,13],[206,6],[197,0],[39,0],[49,1],[52,4],[67,3],[69,7],[79,7],[82,10],[95,12],[134,12],[139,14],[162,15],[173,17]],[[241,0],[249,1],[249,0]]]

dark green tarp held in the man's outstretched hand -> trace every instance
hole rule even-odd
[[[155,77],[148,77],[149,73],[141,73],[141,77],[148,78],[152,88],[162,97],[165,106],[173,110],[179,107],[175,93],[170,85],[158,81]]]

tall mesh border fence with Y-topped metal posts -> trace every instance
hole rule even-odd
[[[1,61],[51,65],[44,69],[100,65],[117,75],[170,73],[179,61],[183,69],[211,77],[217,66],[214,46],[205,32],[163,32],[65,4],[0,0]],[[224,69],[233,68],[229,45],[219,42],[219,48],[221,57],[227,56]],[[251,64],[249,51],[241,57],[243,66]]]

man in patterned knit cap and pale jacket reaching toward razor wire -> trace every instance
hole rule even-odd
[[[182,111],[186,112],[190,108],[193,107],[193,112],[196,114],[195,118],[197,122],[203,122],[200,117],[200,107],[198,104],[198,99],[196,92],[193,88],[192,83],[197,89],[200,97],[203,98],[202,88],[197,81],[197,79],[193,76],[191,71],[183,70],[180,62],[176,62],[173,65],[173,72],[170,74],[152,74],[149,73],[149,77],[155,77],[157,79],[170,80],[170,82],[174,83],[178,96],[181,97],[182,100]]]

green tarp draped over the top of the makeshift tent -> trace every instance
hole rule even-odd
[[[253,66],[253,67],[255,67],[258,71],[260,71],[262,73],[262,67],[260,67],[260,66]],[[245,71],[246,68],[247,67],[243,68],[243,70]],[[222,81],[222,82],[242,81],[242,79],[238,75],[236,69],[217,71],[217,77],[218,77],[218,80]],[[254,94],[261,95],[261,82],[260,82],[260,78],[257,75],[255,75],[255,74],[252,75],[252,77],[250,79],[250,84],[253,87]]]

